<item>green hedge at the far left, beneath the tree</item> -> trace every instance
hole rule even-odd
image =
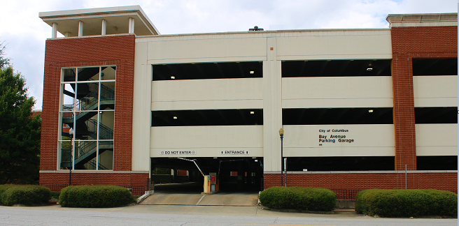
[[[13,184],[0,186],[0,202],[6,206],[43,204],[47,203],[50,198],[51,191],[44,186]]]

